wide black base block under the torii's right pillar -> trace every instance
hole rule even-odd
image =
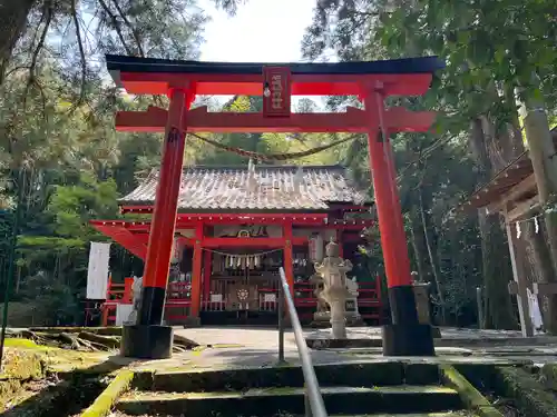
[[[431,325],[383,326],[384,356],[436,356]]]

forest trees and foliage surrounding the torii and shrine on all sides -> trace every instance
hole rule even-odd
[[[243,1],[215,3],[234,13]],[[159,135],[115,132],[117,109],[143,109],[154,99],[118,91],[107,77],[104,53],[196,59],[207,21],[195,0],[0,0],[0,288],[7,279],[17,196],[22,196],[13,282],[19,302],[11,325],[82,319],[89,242],[106,240],[88,220],[120,218],[117,198],[159,165]],[[315,2],[313,23],[301,43],[306,60],[437,54],[447,62],[426,97],[403,102],[438,111],[436,131],[392,138],[412,267],[432,282],[436,315],[446,325],[477,324],[476,288],[482,287],[483,325],[517,327],[501,217],[455,209],[529,146],[520,109],[541,111],[549,126],[557,121],[556,44],[555,1]],[[261,98],[234,97],[223,106],[203,97],[198,105],[256,111]],[[349,105],[359,106],[350,97],[302,99],[295,110],[342,111]],[[339,136],[212,138],[274,153],[311,149]],[[247,163],[187,139],[186,166]],[[343,163],[372,196],[365,147],[365,137],[354,137],[291,163]],[[528,266],[529,282],[556,277],[546,245],[556,236],[549,206],[539,232],[534,221],[521,225],[517,254]],[[378,231],[370,236],[369,265],[381,274]],[[541,250],[536,245],[540,240]],[[118,245],[111,248],[115,279],[137,270],[137,259]],[[545,301],[547,327],[555,330],[551,300]]]

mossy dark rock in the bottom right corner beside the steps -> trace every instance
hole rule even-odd
[[[526,416],[557,416],[555,395],[547,391],[543,384],[524,369],[515,367],[497,368],[496,388],[498,394],[512,398]]]

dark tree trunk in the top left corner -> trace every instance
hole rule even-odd
[[[0,0],[0,86],[37,0]]]

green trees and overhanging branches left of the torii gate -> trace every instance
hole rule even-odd
[[[82,317],[89,242],[107,239],[89,220],[118,218],[118,196],[160,160],[159,135],[115,132],[117,109],[154,100],[107,82],[104,53],[195,59],[207,19],[193,0],[12,3],[6,12],[28,24],[10,28],[17,42],[8,49],[12,38],[0,30],[0,208],[9,210],[0,216],[0,270],[18,190],[11,183],[25,169],[16,297],[48,307],[55,324],[72,322],[77,311]],[[186,158],[195,161],[199,148],[193,142]],[[136,262],[115,245],[111,259],[115,279]]]

